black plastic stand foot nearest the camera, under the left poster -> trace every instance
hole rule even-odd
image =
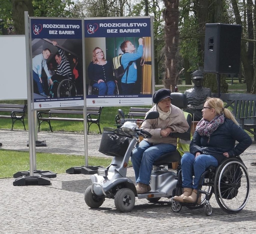
[[[13,185],[50,185],[50,179],[44,176],[21,176],[14,180]]]

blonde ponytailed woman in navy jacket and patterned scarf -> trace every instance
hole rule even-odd
[[[221,99],[207,98],[202,112],[203,119],[197,124],[190,153],[181,158],[184,189],[183,194],[173,197],[176,202],[201,204],[201,194],[197,200],[197,191],[201,189],[198,185],[206,168],[218,167],[224,159],[240,155],[252,143]]]

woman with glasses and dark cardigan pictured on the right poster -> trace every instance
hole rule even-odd
[[[114,95],[116,85],[113,67],[99,47],[93,49],[93,61],[88,66],[88,75],[94,82],[92,86],[99,89],[99,95]]]

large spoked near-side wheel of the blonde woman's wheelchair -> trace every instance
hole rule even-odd
[[[218,205],[227,213],[241,211],[250,195],[250,179],[244,164],[236,158],[225,160],[216,170],[214,191]]]

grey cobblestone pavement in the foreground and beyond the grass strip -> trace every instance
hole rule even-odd
[[[0,130],[2,149],[28,150],[25,131]],[[88,135],[88,155],[97,152],[100,135]],[[10,139],[11,138],[11,139]],[[47,147],[36,147],[41,152],[84,154],[83,134],[38,134],[46,140]],[[92,141],[92,142],[91,142]],[[93,143],[93,147],[90,143]],[[95,151],[94,148],[95,147]],[[0,233],[1,234],[69,234],[69,233],[251,233],[256,231],[256,145],[242,155],[251,179],[250,198],[245,208],[237,214],[226,214],[218,206],[214,195],[210,202],[212,215],[203,209],[183,207],[178,213],[160,199],[162,204],[152,204],[137,199],[130,213],[116,211],[113,199],[106,199],[98,209],[89,208],[84,202],[84,191],[91,184],[90,175],[58,174],[51,185],[13,186],[14,179],[0,179]],[[134,181],[132,168],[127,176]]]

